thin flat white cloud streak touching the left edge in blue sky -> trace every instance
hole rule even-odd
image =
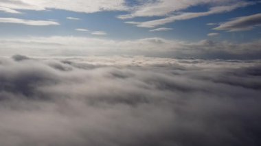
[[[34,20],[16,19],[16,18],[0,18],[0,23],[17,23],[17,24],[35,25],[35,26],[60,25],[55,21],[34,21]]]

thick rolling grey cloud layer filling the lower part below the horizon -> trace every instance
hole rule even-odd
[[[260,145],[259,61],[14,60],[1,145]]]

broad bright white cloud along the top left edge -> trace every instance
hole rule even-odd
[[[127,10],[124,0],[5,0],[0,1],[3,8],[12,10],[69,10],[74,12],[100,12],[111,10]]]

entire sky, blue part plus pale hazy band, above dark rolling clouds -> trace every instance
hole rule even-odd
[[[0,51],[3,56],[257,59],[260,6],[244,0],[2,0]]]

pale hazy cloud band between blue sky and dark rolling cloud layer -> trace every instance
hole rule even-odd
[[[130,55],[175,58],[260,59],[261,41],[184,42],[163,38],[107,40],[73,36],[0,39],[1,56],[25,53],[32,56]]]

